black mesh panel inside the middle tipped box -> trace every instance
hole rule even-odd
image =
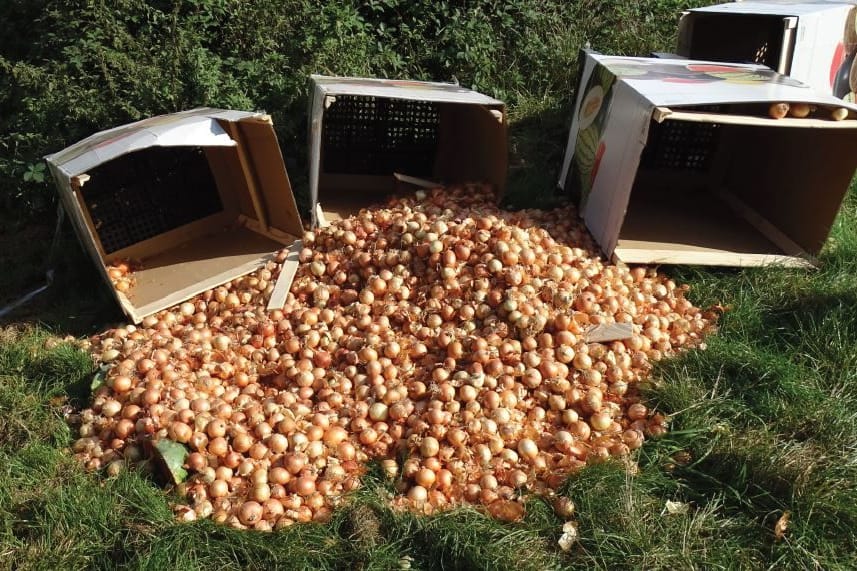
[[[437,105],[428,101],[338,95],[324,112],[323,170],[430,176],[437,151]]]

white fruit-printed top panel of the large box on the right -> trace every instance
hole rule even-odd
[[[857,105],[818,93],[763,65],[588,55],[652,107],[786,101],[857,111]]]

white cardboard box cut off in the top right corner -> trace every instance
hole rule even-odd
[[[679,55],[760,63],[819,93],[854,101],[855,17],[851,2],[731,2],[685,12]]]

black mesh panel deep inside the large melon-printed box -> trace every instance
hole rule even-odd
[[[707,109],[716,111],[716,109]],[[687,121],[652,122],[643,151],[646,168],[704,172],[717,149],[720,125]]]

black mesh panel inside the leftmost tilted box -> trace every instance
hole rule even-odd
[[[89,174],[81,191],[106,254],[223,209],[199,147],[146,149]]]

